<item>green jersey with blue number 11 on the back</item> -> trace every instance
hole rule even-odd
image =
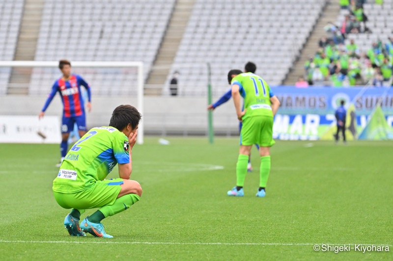
[[[240,95],[244,98],[246,114],[242,119],[255,116],[273,117],[270,98],[274,96],[264,79],[252,72],[237,75],[231,85],[239,85]]]

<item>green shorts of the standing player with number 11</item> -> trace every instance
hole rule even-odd
[[[276,143],[273,140],[273,117],[254,116],[243,120],[240,131],[240,145],[258,144],[270,147]]]

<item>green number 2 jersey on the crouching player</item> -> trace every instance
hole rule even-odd
[[[130,162],[128,138],[113,127],[95,127],[72,146],[60,166],[53,191],[75,193],[104,180],[117,163]]]

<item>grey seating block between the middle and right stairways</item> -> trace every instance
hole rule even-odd
[[[228,89],[227,72],[243,70],[247,61],[253,61],[257,74],[272,86],[280,85],[325,2],[196,0],[167,83],[179,71],[180,95],[205,95],[209,62],[213,95],[220,95]]]

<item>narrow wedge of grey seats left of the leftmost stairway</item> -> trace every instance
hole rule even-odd
[[[12,61],[17,46],[25,0],[0,1],[0,60]],[[11,68],[0,67],[0,95],[7,90]]]

